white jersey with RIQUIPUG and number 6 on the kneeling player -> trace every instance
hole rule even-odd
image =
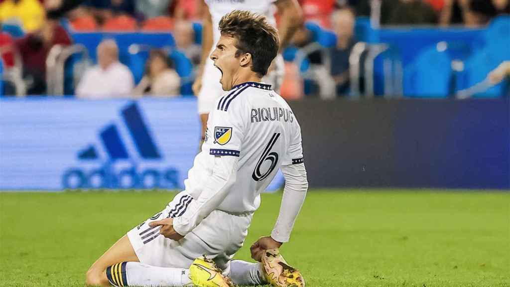
[[[227,190],[212,191],[215,166],[224,169],[226,159],[238,158],[234,182]],[[247,82],[225,92],[209,114],[206,139],[184,181],[185,192],[195,199],[174,228],[186,234],[198,223],[199,209],[251,213],[259,208],[260,194],[281,165],[303,162],[301,129],[292,109],[270,85]],[[211,196],[204,198],[202,193]],[[225,197],[211,206],[214,193]],[[207,214],[204,214],[207,216]]]

